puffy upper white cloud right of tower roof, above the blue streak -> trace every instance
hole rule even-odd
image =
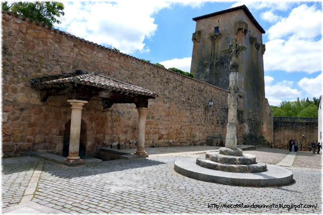
[[[301,5],[294,8],[287,18],[283,18],[267,30],[270,40],[294,34],[296,38],[315,38],[321,33],[323,14],[315,6]]]

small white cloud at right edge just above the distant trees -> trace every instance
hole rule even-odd
[[[318,98],[323,94],[323,73],[319,74],[316,78],[302,78],[297,85],[306,92],[306,97]]]

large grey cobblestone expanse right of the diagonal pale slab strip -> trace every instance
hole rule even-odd
[[[265,154],[267,152],[261,152],[269,156]],[[211,204],[241,203],[287,206],[317,203],[316,208],[293,208],[290,212],[321,213],[320,171],[291,169],[296,183],[289,186],[238,187],[197,181],[176,173],[175,160],[185,157],[187,156],[177,155],[113,160],[96,166],[74,168],[45,162],[32,201],[72,214],[288,212],[288,208],[217,210],[215,205],[208,208]],[[28,172],[32,165],[34,164],[26,165],[21,173]],[[3,168],[5,170],[10,167]],[[4,173],[5,171],[3,177]],[[11,180],[11,177],[8,180]]]

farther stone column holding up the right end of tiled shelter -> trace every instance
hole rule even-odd
[[[138,120],[138,141],[137,141],[137,150],[134,154],[148,157],[148,154],[145,152],[145,135],[146,135],[146,116],[148,113],[147,108],[137,108],[139,113]]]

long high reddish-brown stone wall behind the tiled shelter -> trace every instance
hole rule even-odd
[[[65,95],[40,101],[29,79],[97,71],[156,92],[149,99],[146,147],[204,144],[207,136],[226,136],[228,91],[143,62],[132,56],[49,29],[3,12],[3,156],[32,151],[62,154],[71,119]],[[213,106],[207,101],[213,98]],[[134,104],[114,104],[102,112],[93,97],[84,105],[86,156],[100,146],[135,148],[138,113]]]

